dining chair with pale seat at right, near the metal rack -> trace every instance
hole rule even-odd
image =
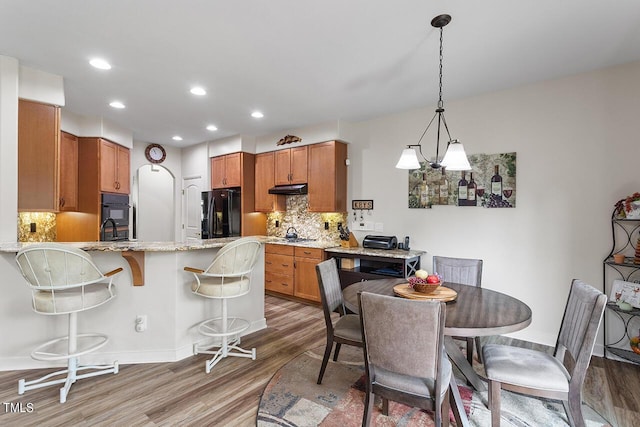
[[[500,425],[501,389],[560,400],[569,424],[585,425],[582,385],[606,303],[602,292],[573,280],[553,356],[506,345],[484,346],[492,426]]]

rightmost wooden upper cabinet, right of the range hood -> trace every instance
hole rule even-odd
[[[347,144],[309,145],[309,211],[347,211]]]

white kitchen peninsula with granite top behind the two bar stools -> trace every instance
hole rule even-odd
[[[215,317],[219,311],[212,301],[191,293],[193,275],[185,266],[206,268],[217,251],[236,238],[194,242],[77,242],[69,243],[89,252],[102,271],[122,267],[114,277],[116,299],[79,315],[79,332],[99,332],[109,336],[100,351],[83,359],[87,363],[120,364],[170,362],[189,357],[192,346],[202,336],[196,326]],[[0,303],[0,322],[5,328],[0,349],[3,370],[43,368],[46,365],[29,356],[34,343],[66,335],[67,323],[56,317],[41,316],[31,308],[31,292],[15,262],[16,253],[29,243],[0,243],[4,296]],[[137,254],[143,260],[144,285],[133,286],[132,269],[121,254]],[[213,301],[213,303],[215,303]],[[264,318],[264,251],[252,274],[249,295],[229,301],[230,312],[249,320],[246,333],[266,327]],[[147,330],[135,331],[137,315],[147,316]],[[258,357],[260,352],[258,351]]]

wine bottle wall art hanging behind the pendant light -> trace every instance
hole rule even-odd
[[[470,171],[432,169],[420,163],[409,171],[409,207],[434,205],[516,207],[516,153],[470,154]]]

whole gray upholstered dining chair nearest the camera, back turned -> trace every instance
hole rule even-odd
[[[451,362],[444,351],[443,302],[416,301],[362,292],[358,295],[367,373],[363,426],[369,426],[374,395],[435,413],[449,425]]]

